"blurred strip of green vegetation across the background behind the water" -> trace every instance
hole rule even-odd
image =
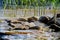
[[[60,0],[3,0],[3,8],[29,8],[29,7],[45,7],[60,6]]]

